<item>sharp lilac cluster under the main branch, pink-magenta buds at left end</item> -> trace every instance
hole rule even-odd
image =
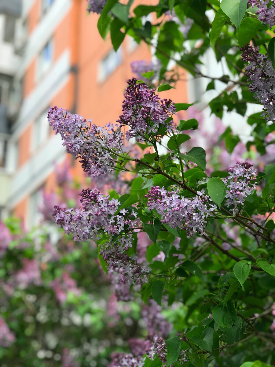
[[[161,215],[161,222],[171,228],[186,229],[188,235],[195,232],[205,233],[206,218],[213,215],[216,204],[210,204],[209,196],[204,196],[205,191],[198,191],[198,195],[187,199],[180,197],[177,191],[167,191],[164,186],[152,186],[145,197],[148,197],[149,210],[156,209]]]

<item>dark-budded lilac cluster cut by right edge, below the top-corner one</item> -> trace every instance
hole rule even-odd
[[[241,48],[242,59],[249,64],[245,67],[245,75],[249,77],[249,90],[255,93],[255,99],[263,103],[263,113],[268,120],[275,120],[275,72],[268,54],[259,53],[258,47],[246,44]]]

